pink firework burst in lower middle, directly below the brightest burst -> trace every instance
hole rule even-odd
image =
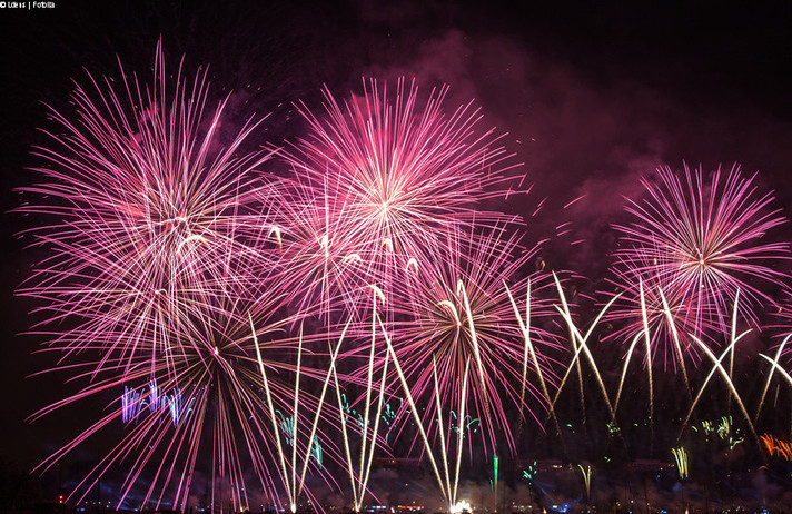
[[[446,243],[443,258],[403,268],[404,278],[394,294],[398,302],[393,307],[398,319],[393,324],[394,348],[418,397],[433,391],[436,363],[443,411],[459,397],[462,370],[469,360],[467,411],[481,421],[481,436],[493,451],[495,441],[503,441],[512,451],[507,406],[518,406],[525,417],[535,417],[534,402],[545,408],[542,387],[555,377],[547,353],[558,346],[538,323],[533,328],[515,323],[509,295],[512,290],[526,291],[531,284],[528,309],[535,322],[552,314],[542,297],[551,283],[539,274],[517,278],[535,250],[522,248],[516,237],[499,229],[479,237],[464,234]],[[539,387],[531,374],[537,368]],[[528,396],[534,401],[531,404]],[[433,412],[427,408],[427,418],[436,417]]]

